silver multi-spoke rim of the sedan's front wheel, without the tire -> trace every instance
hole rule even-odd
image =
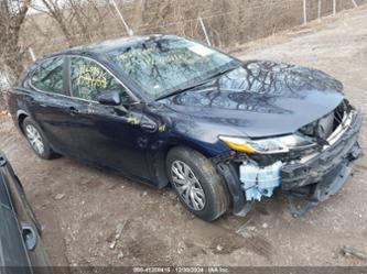
[[[172,179],[183,201],[196,211],[206,204],[205,193],[192,168],[182,161],[174,161],[171,166]]]

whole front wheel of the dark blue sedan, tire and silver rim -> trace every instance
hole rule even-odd
[[[213,163],[187,147],[174,147],[166,157],[171,185],[184,206],[198,218],[213,221],[229,207],[229,195]]]

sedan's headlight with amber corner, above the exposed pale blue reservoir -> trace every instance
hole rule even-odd
[[[309,138],[298,134],[257,140],[222,135],[219,140],[236,151],[262,154],[287,153],[292,149],[307,149],[315,145]]]

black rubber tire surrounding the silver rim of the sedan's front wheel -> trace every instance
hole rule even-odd
[[[186,196],[186,193],[180,194],[177,187],[180,185],[174,180],[176,174],[174,174],[172,168],[176,167],[177,164],[182,165],[182,163],[191,168],[205,194],[205,205],[199,210],[193,208],[192,197],[190,198],[191,201],[185,201],[184,197],[187,198],[190,195]],[[230,200],[226,183],[216,172],[214,164],[201,153],[183,146],[172,149],[166,156],[166,173],[182,204],[196,217],[205,221],[214,221],[228,210]],[[197,189],[196,187],[194,188]]]

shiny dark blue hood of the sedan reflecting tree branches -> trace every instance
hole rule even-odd
[[[181,118],[259,138],[293,133],[333,111],[343,98],[343,85],[320,70],[251,61],[162,102]]]

